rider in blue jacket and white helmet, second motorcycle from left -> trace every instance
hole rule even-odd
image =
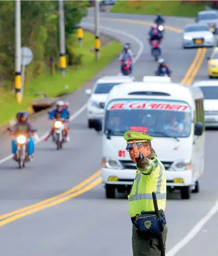
[[[70,135],[69,135],[69,127],[67,125],[67,121],[68,121],[68,111],[67,109],[64,108],[65,103],[63,102],[63,100],[58,100],[56,102],[56,108],[52,110],[52,112],[49,113],[49,119],[53,120],[53,119],[62,119],[62,121],[65,123],[64,125],[64,131],[65,131],[65,139],[66,141],[70,141]],[[54,134],[54,126],[52,125],[52,129],[50,134],[44,139],[44,141],[48,141],[49,137]]]

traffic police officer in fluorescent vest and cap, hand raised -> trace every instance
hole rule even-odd
[[[159,256],[160,240],[157,234],[140,233],[136,226],[136,216],[142,211],[154,212],[152,193],[156,193],[158,209],[163,217],[163,245],[166,248],[167,226],[164,216],[166,207],[166,172],[162,162],[157,158],[151,140],[154,138],[144,133],[127,131],[124,134],[127,141],[126,150],[130,158],[137,163],[136,177],[132,184],[129,201],[129,215],[132,221],[132,251],[134,256]],[[146,226],[146,224],[145,224]],[[147,227],[147,226],[146,226]]]

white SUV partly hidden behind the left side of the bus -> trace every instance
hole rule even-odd
[[[105,76],[96,81],[93,91],[86,89],[86,94],[91,96],[87,103],[88,127],[93,128],[93,121],[102,119],[108,93],[113,86],[135,81],[129,76]]]

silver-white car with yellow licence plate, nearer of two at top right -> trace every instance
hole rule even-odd
[[[183,48],[213,47],[215,36],[206,24],[189,24],[183,32]]]

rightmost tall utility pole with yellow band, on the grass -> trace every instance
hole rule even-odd
[[[100,59],[100,47],[101,47],[101,42],[99,39],[100,33],[99,33],[99,19],[100,12],[99,12],[99,1],[95,1],[95,6],[94,6],[94,26],[95,26],[95,40],[94,40],[94,50],[96,52],[96,60]]]

